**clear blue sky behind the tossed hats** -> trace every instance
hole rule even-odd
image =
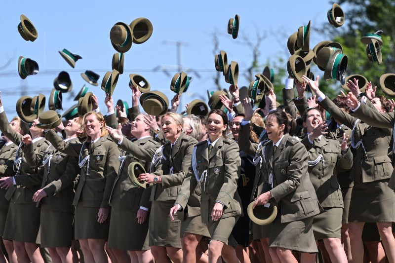
[[[158,66],[177,65],[176,46],[166,41],[183,41],[182,64],[184,71],[191,68],[198,72],[188,93],[182,95],[185,104],[198,96],[206,98],[206,90],[215,89],[213,77],[216,75],[213,54],[213,33],[218,33],[219,48],[228,54],[228,61],[237,61],[240,71],[251,62],[251,49],[243,41],[243,36],[256,41],[257,32],[266,35],[261,44],[260,63],[281,56],[284,68],[289,57],[286,42],[289,35],[299,26],[312,20],[313,31],[310,46],[323,39],[314,29],[328,23],[326,12],[331,7],[328,1],[6,1],[0,14],[0,66],[10,64],[0,70],[1,98],[9,118],[16,115],[15,103],[22,95],[35,96],[49,94],[53,80],[61,71],[69,72],[73,91],[77,93],[86,84],[89,91],[99,98],[102,112],[104,91],[100,88],[102,77],[111,71],[112,56],[116,52],[110,42],[110,30],[117,22],[129,24],[138,17],[151,20],[154,32],[143,44],[133,44],[125,53],[124,73],[119,76],[114,92],[114,100],[122,98],[131,105],[131,90],[128,87],[129,74],[146,77],[151,89],[164,92],[169,101],[175,93],[170,91],[175,68],[167,67],[170,75],[154,71]],[[39,37],[34,42],[25,41],[18,33],[20,15],[26,15],[38,30]],[[227,24],[235,14],[240,16],[240,30],[237,39],[227,34]],[[347,18],[346,18],[347,19]],[[347,20],[346,20],[347,23]],[[82,59],[71,68],[58,53],[63,48],[79,54]],[[24,56],[38,62],[40,73],[21,79],[18,75],[18,57]],[[99,86],[85,83],[80,73],[92,70],[100,75]],[[196,75],[190,71],[189,75]],[[223,88],[229,87],[221,78]],[[239,77],[239,86],[247,85],[247,80]],[[74,96],[63,95],[63,109],[72,106]],[[46,106],[46,109],[48,106]],[[182,106],[183,107],[183,106]],[[62,113],[62,111],[60,111]]]

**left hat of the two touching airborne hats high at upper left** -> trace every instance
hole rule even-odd
[[[126,53],[132,46],[133,36],[130,26],[123,23],[116,23],[110,31],[111,44],[119,53]]]

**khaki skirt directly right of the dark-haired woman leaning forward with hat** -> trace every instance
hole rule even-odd
[[[324,208],[313,219],[313,233],[316,240],[324,238],[340,238],[340,228],[342,227],[343,208]]]

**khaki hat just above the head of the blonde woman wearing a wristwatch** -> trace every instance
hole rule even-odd
[[[140,104],[146,113],[159,116],[167,113],[169,100],[162,92],[153,90],[140,96]]]

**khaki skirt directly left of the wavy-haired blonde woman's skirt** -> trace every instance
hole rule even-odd
[[[40,244],[43,248],[71,247],[74,214],[41,207]]]

